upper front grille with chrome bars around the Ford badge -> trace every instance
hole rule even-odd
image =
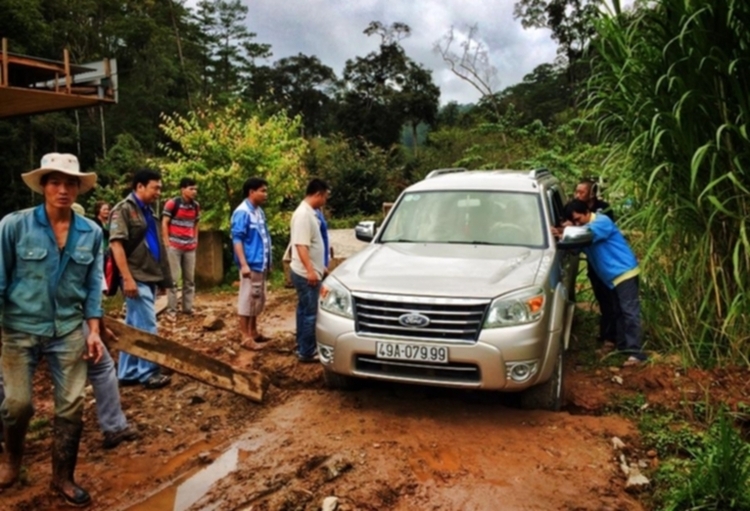
[[[429,339],[473,344],[479,337],[488,301],[354,295],[357,333],[401,339]],[[405,315],[425,316],[426,326],[399,321]]]

